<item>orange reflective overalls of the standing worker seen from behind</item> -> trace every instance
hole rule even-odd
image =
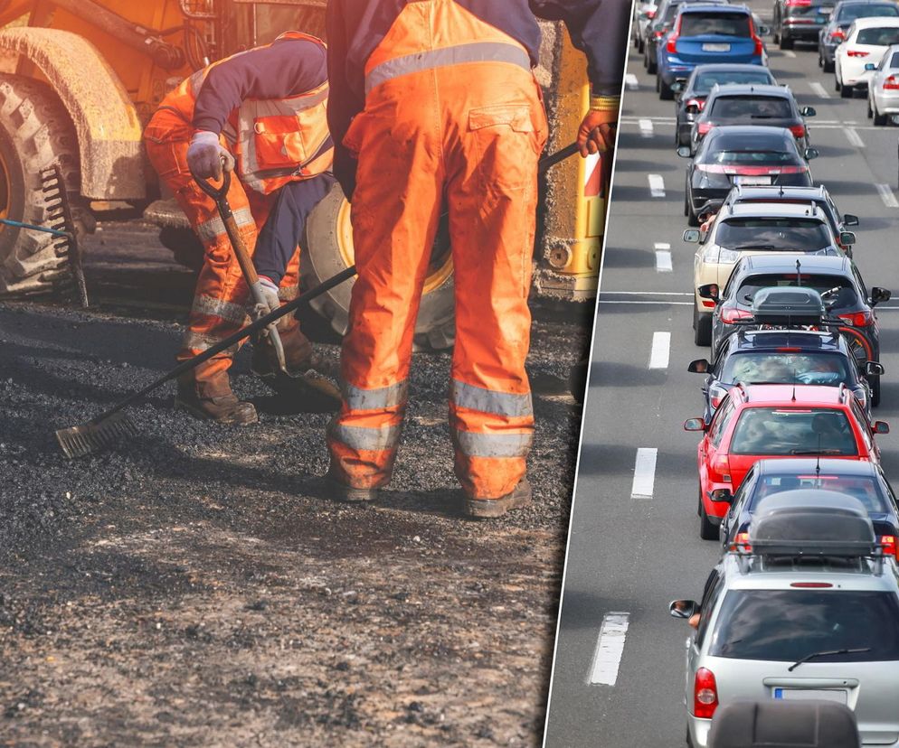
[[[540,89],[518,42],[452,0],[409,3],[365,66],[355,262],[341,373],[328,426],[331,474],[355,488],[390,480],[412,335],[443,206],[456,288],[449,425],[463,490],[512,491],[534,431],[525,358],[537,199],[546,139]]]

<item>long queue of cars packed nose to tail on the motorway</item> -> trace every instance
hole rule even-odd
[[[818,42],[844,97],[870,81],[868,117],[885,124],[899,113],[897,9],[776,0],[773,37]],[[699,534],[722,549],[702,599],[669,608],[696,629],[686,742],[708,746],[718,707],[739,699],[818,699],[848,706],[864,744],[899,745],[899,504],[877,444],[889,426],[872,416],[875,307],[891,292],[859,273],[859,220],[809,168],[816,113],[778,86],[748,8],[653,10],[635,43],[659,98],[676,99],[694,337],[710,346],[689,365],[705,407],[684,428],[700,435]]]

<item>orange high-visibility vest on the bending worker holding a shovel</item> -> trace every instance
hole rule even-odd
[[[325,46],[307,33],[286,32],[275,41],[281,39],[305,39]],[[209,71],[236,56],[197,70],[166,97],[163,106],[175,109],[190,122]],[[334,145],[327,129],[327,90],[325,81],[290,98],[247,99],[231,113],[222,136],[237,160],[241,182],[267,195],[288,182],[308,179],[331,168]]]

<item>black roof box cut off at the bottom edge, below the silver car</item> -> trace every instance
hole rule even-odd
[[[859,748],[856,715],[832,701],[733,701],[712,719],[709,748]]]

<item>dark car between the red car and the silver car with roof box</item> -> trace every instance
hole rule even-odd
[[[885,546],[885,553],[896,553],[899,536],[899,509],[893,489],[884,471],[876,463],[833,458],[778,458],[759,460],[746,473],[743,483],[733,495],[718,493],[719,500],[729,500],[730,509],[721,522],[721,542],[726,551],[735,543],[745,544],[752,512],[759,502],[772,493],[795,491],[801,502],[813,496],[811,491],[835,491],[862,502],[875,533]],[[741,535],[742,534],[742,535]]]

